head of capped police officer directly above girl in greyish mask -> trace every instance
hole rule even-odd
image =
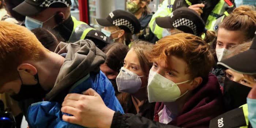
[[[130,12],[124,10],[114,10],[109,13],[107,18],[96,19],[102,33],[113,39],[114,42],[121,42],[129,45],[132,41],[132,34],[140,31],[139,20]]]

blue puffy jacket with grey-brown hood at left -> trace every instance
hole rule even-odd
[[[114,88],[109,79],[99,70],[106,55],[90,40],[75,43],[60,42],[56,53],[65,54],[53,88],[45,95],[47,101],[33,103],[27,110],[27,122],[30,128],[80,128],[62,120],[61,103],[68,93],[79,93],[94,89],[108,108],[124,113],[115,97]]]

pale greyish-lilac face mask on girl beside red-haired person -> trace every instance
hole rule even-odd
[[[142,85],[141,77],[143,76],[138,76],[127,68],[122,67],[116,77],[118,91],[131,94],[136,93]]]

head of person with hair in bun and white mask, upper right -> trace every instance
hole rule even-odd
[[[216,44],[217,60],[221,61],[230,46],[252,40],[256,31],[256,11],[242,5],[227,16],[219,26]]]

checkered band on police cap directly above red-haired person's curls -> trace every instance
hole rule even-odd
[[[193,30],[194,35],[197,35],[196,25],[191,20],[186,19],[186,18],[181,18],[181,19],[175,20],[173,22],[173,27],[177,28],[179,26],[187,26]]]

